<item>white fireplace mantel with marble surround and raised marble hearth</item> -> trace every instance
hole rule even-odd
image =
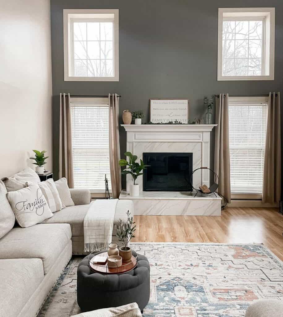
[[[210,133],[216,125],[122,125],[127,131],[127,151],[142,159],[144,152],[191,152],[193,169],[210,167]],[[194,187],[210,185],[208,170],[194,174]],[[130,180],[130,175],[127,175]],[[139,176],[140,195],[131,197],[123,191],[119,199],[131,199],[136,215],[221,216],[221,198],[193,197],[190,192],[143,191]]]

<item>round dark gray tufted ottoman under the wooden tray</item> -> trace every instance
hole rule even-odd
[[[149,301],[150,267],[145,256],[138,254],[137,260],[137,266],[128,273],[103,275],[89,268],[86,256],[78,267],[77,298],[81,310],[86,312],[136,302],[142,311]]]

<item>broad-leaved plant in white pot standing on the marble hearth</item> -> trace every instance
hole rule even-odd
[[[140,163],[136,162],[138,158],[136,155],[133,155],[131,152],[125,152],[125,156],[129,157],[129,162],[125,159],[120,159],[119,165],[126,166],[126,169],[122,171],[122,174],[131,174],[134,180],[134,184],[130,184],[130,196],[139,196],[140,187],[139,184],[136,184],[135,181],[138,176],[142,175],[141,171],[146,169],[150,165],[144,165],[142,159],[140,159]]]

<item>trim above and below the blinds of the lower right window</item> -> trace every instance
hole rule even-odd
[[[269,107],[269,98],[267,96],[259,97],[229,97],[229,106],[232,105],[233,102],[248,102],[252,103],[267,103],[267,107]],[[262,193],[233,193],[231,192],[231,199],[262,199]]]

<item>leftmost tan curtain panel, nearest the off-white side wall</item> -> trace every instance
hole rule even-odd
[[[59,178],[74,188],[70,94],[60,94]]]

